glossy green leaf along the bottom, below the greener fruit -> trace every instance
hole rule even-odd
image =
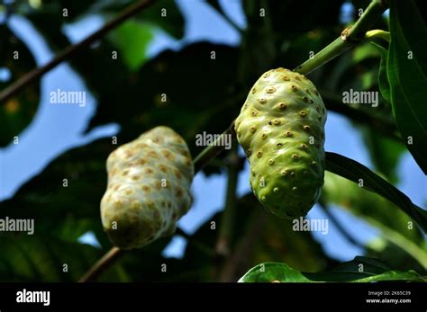
[[[414,271],[391,271],[376,259],[356,257],[328,272],[300,272],[286,263],[260,263],[244,274],[240,282],[322,282],[322,281],[423,281]]]

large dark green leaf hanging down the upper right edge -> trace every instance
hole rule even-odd
[[[390,2],[390,33],[387,76],[395,121],[427,174],[427,29],[412,0]]]

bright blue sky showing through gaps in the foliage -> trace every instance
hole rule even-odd
[[[245,26],[245,18],[241,9],[241,1],[221,1],[225,12],[241,27]],[[238,45],[240,35],[227,22],[224,22],[218,13],[213,12],[203,1],[177,1],[182,13],[186,16],[186,32],[182,40],[174,40],[164,31],[157,30],[154,40],[150,43],[149,56],[154,57],[164,49],[180,49],[186,44],[210,40],[228,45]],[[79,22],[69,24],[63,31],[68,38],[77,42],[88,34],[97,30],[104,20],[99,16],[87,16]],[[53,57],[47,43],[32,25],[20,17],[13,17],[10,21],[16,35],[23,39],[32,50],[40,67]],[[119,131],[115,124],[107,124],[84,134],[87,121],[95,114],[96,99],[88,92],[83,81],[77,76],[67,63],[56,67],[41,80],[41,104],[32,123],[19,135],[20,144],[0,148],[0,200],[11,197],[17,188],[28,181],[32,176],[50,163],[55,157],[71,147],[87,144],[97,138],[111,137]],[[86,91],[86,107],[77,105],[56,106],[48,104],[48,94],[51,90],[68,89]],[[67,111],[64,111],[67,110]],[[223,129],[218,129],[221,132]],[[330,112],[326,123],[326,150],[349,156],[364,165],[372,168],[368,152],[363,146],[362,139],[350,122],[341,115]],[[422,207],[426,203],[427,183],[425,176],[408,153],[399,164],[398,173],[401,182],[398,187],[412,200]],[[193,183],[192,192],[195,202],[187,215],[178,225],[186,233],[193,233],[206,220],[223,207],[225,196],[225,174],[216,174],[206,178],[204,174],[197,174]],[[249,170],[239,176],[238,194],[250,192]],[[353,218],[341,209],[333,209],[333,213],[348,227],[350,234],[362,244],[377,237],[377,231],[357,218]],[[318,207],[314,207],[309,218],[326,218]],[[331,256],[340,260],[350,260],[361,250],[350,245],[330,224],[329,234],[323,236],[313,232],[313,235],[322,244]],[[82,240],[88,244],[95,244],[93,236],[87,234]],[[185,239],[176,236],[164,251],[168,256],[179,256],[183,252]],[[266,259],[268,260],[268,259]],[[269,259],[273,261],[274,259]]]

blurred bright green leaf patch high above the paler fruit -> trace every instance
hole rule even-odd
[[[123,54],[124,63],[134,71],[147,59],[146,51],[153,38],[153,29],[147,24],[131,20],[114,30],[109,38],[119,49],[118,57],[121,58],[120,54]]]

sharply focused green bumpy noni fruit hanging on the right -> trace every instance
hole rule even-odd
[[[303,217],[319,199],[325,121],[323,100],[303,75],[272,69],[250,90],[235,130],[250,162],[250,187],[273,214]]]

